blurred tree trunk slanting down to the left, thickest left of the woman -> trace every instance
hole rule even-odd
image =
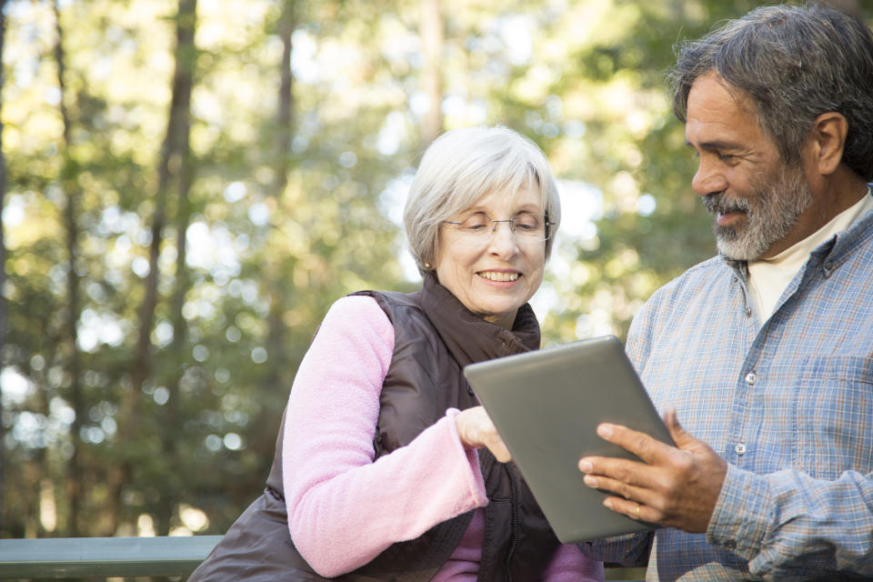
[[[155,310],[158,302],[158,257],[161,240],[166,227],[166,206],[170,191],[176,179],[176,191],[181,191],[179,176],[184,174],[189,155],[188,137],[190,128],[191,91],[194,83],[196,48],[194,33],[196,28],[196,0],[179,0],[176,17],[176,71],[173,78],[173,97],[166,125],[166,137],[161,147],[161,158],[157,168],[157,191],[155,196],[155,215],[152,218],[152,241],[149,247],[148,275],[146,293],[139,308],[139,336],[131,365],[130,388],[125,395],[124,416],[120,423],[119,445],[122,447],[135,438],[135,418],[139,414],[140,399],[146,380],[152,376],[152,327],[155,324]],[[187,186],[186,186],[187,187]],[[184,249],[180,249],[184,256]],[[176,405],[174,405],[176,406]],[[111,487],[110,499],[115,504],[115,522],[121,507],[121,493],[125,483],[133,477],[133,467],[137,459],[124,456],[120,471]],[[171,509],[172,510],[172,509]],[[162,512],[164,513],[164,512]],[[168,521],[167,521],[168,524]],[[160,527],[160,526],[159,526]]]

